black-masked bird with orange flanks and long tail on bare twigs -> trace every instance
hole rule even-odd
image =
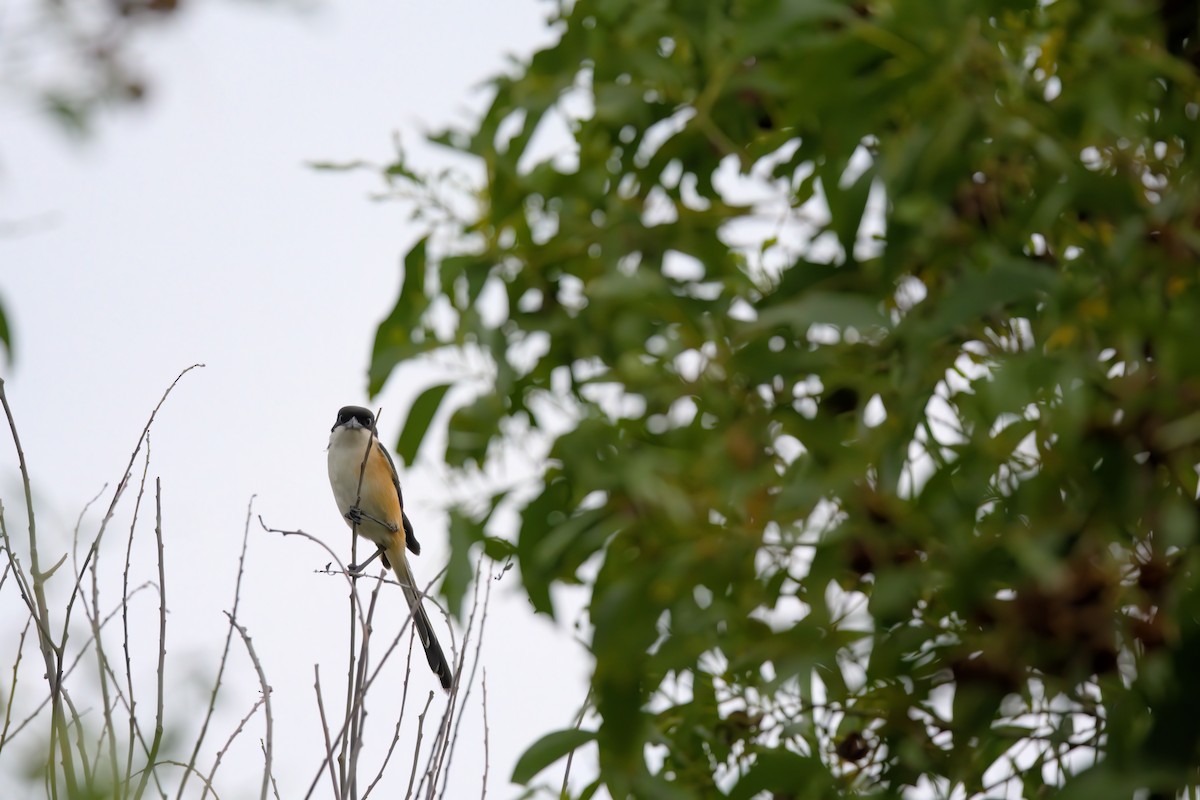
[[[346,405],[337,411],[337,420],[329,434],[329,485],[334,489],[337,510],[346,524],[359,536],[371,541],[379,549],[384,566],[391,567],[396,581],[404,591],[413,613],[413,625],[425,648],[430,669],[438,676],[442,688],[450,691],[454,672],[446,662],[438,637],[433,633],[430,618],[421,604],[421,593],[416,588],[412,567],[404,549],[419,555],[421,545],[413,533],[413,523],[404,513],[404,495],[400,491],[400,476],[388,449],[379,441],[376,417],[368,409]],[[362,565],[350,565],[359,571]]]

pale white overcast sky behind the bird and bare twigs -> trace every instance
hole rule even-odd
[[[319,535],[349,559],[324,449],[337,408],[367,401],[374,326],[395,301],[398,259],[416,231],[397,206],[367,199],[379,188],[373,176],[314,173],[305,162],[384,161],[400,131],[419,162],[434,163],[420,132],[479,109],[480,83],[504,67],[506,55],[548,41],[548,11],[550,4],[533,0],[342,0],[311,13],[187,4],[178,24],[143,37],[138,52],[152,79],[146,109],[102,116],[90,140],[73,143],[11,98],[0,103],[0,219],[48,221],[0,239],[0,295],[17,345],[16,363],[4,365],[2,374],[38,498],[43,563],[70,547],[77,515],[106,483],[100,505],[107,505],[175,374],[197,361],[208,365],[184,379],[161,413],[150,467],[164,494],[167,684],[175,687],[168,723],[185,724],[185,741],[194,735],[186,724],[198,724],[223,643],[222,610],[232,600],[251,495],[268,524]],[[371,403],[384,407],[385,441],[395,441],[424,380],[397,374]],[[7,435],[0,438],[0,498],[10,531],[24,541],[16,457]],[[436,458],[439,450],[422,455]],[[440,471],[420,463],[404,473],[404,485],[424,546],[414,571],[428,579],[445,561],[445,518],[437,511],[445,487]],[[132,499],[102,554],[103,569],[118,577]],[[94,535],[100,517],[96,510],[85,517],[84,536]],[[151,525],[138,529],[136,548],[152,558]],[[313,664],[322,664],[331,714],[344,691],[343,583],[313,573],[326,561],[310,543],[251,530],[239,619],[274,688],[283,798],[304,794],[323,752]],[[56,581],[66,583],[65,575]],[[139,575],[151,577],[148,569]],[[109,594],[106,606],[118,599]],[[390,639],[407,612],[398,591],[385,600],[379,633]],[[23,621],[11,584],[0,603],[6,696],[14,626]],[[152,621],[156,597],[144,593],[137,603]],[[484,644],[491,796],[516,794],[508,778],[517,756],[542,733],[569,727],[583,699],[587,661],[571,621],[534,619],[515,571],[494,587]],[[156,622],[136,643],[151,666],[154,636]],[[205,769],[258,696],[253,670],[239,648],[234,652]],[[29,646],[25,655],[30,666],[36,654]],[[40,669],[26,669],[24,681],[19,703],[44,691]],[[414,681],[424,702],[436,684],[419,655]],[[384,686],[373,696],[367,736],[384,746],[394,722],[388,706],[398,693],[398,685]],[[478,702],[476,687],[450,796],[479,792]],[[152,726],[151,686],[140,703],[144,724]],[[440,694],[434,709],[439,703]],[[409,720],[408,735],[415,716]],[[14,796],[5,787],[26,766],[16,756],[43,735],[44,726],[26,730],[0,758],[0,794]],[[227,756],[217,782],[222,796],[257,793],[262,735],[259,717],[239,752]],[[410,752],[402,741],[379,795],[403,792]],[[364,774],[370,780],[373,769]],[[557,775],[544,777],[554,783]],[[325,783],[316,794],[328,792]]]

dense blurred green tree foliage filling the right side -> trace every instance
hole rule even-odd
[[[552,24],[438,137],[486,181],[408,253],[371,385],[482,355],[448,464],[547,443],[536,492],[455,512],[454,558],[512,553],[547,614],[589,591],[584,795],[1196,783],[1194,4]],[[409,455],[455,397],[431,392]]]

